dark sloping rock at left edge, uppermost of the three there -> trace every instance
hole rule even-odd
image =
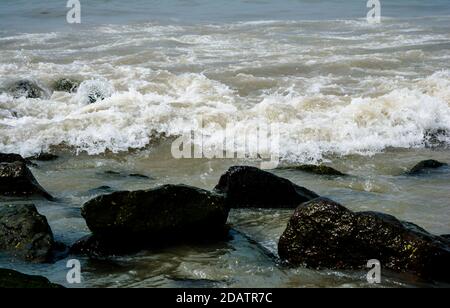
[[[40,195],[53,200],[53,197],[39,185],[25,163],[20,161],[0,163],[0,195],[12,197]]]

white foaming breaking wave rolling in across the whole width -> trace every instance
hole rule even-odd
[[[165,78],[159,91],[151,85],[146,91],[119,91],[105,81],[87,83],[111,92],[95,104],[87,103],[84,90],[55,92],[47,100],[2,94],[0,151],[31,155],[65,144],[94,155],[145,147],[155,132],[178,136],[189,130],[202,131],[208,145],[217,142],[218,125],[234,129],[243,150],[248,144],[239,132],[264,122],[279,125],[283,157],[311,161],[331,153],[425,147],[428,132],[450,131],[449,71],[374,97],[324,95],[317,89],[301,94],[291,87],[262,93],[253,105],[203,74],[166,73]],[[204,127],[198,126],[200,117]]]

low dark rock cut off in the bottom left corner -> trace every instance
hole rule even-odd
[[[25,275],[0,268],[0,289],[56,289],[64,288],[41,276]]]

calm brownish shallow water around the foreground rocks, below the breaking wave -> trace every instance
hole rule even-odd
[[[73,157],[62,153],[54,162],[39,163],[33,172],[57,199],[33,201],[47,216],[57,240],[71,244],[89,233],[80,217],[80,206],[102,191],[144,189],[166,183],[185,183],[212,189],[233,164],[248,161],[175,160],[166,144],[134,154]],[[392,150],[374,157],[336,158],[331,165],[349,177],[328,177],[276,170],[276,174],[339,201],[352,210],[382,211],[419,224],[435,234],[450,230],[450,172],[442,169],[420,177],[404,172],[422,158],[450,162],[447,151]],[[105,173],[114,170],[122,175]],[[149,179],[131,178],[140,172]],[[89,260],[82,258],[82,287],[362,287],[365,273],[286,269],[276,261],[277,242],[292,210],[233,210],[229,224],[232,240],[205,246],[181,246],[137,255]],[[273,258],[275,256],[275,260]],[[70,258],[70,257],[69,257]],[[54,265],[30,265],[7,257],[2,267],[44,274],[67,285],[67,259]],[[383,272],[381,286],[429,285],[408,275]],[[67,285],[71,287],[71,285]]]

